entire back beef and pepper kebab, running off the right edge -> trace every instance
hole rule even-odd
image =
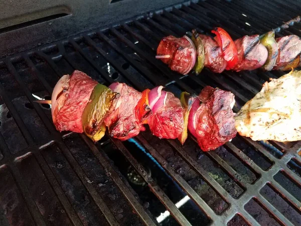
[[[164,37],[157,48],[157,59],[181,74],[194,69],[199,74],[204,67],[215,73],[224,70],[290,70],[300,63],[301,39],[288,35],[275,39],[274,31],[264,35],[244,36],[235,41],[222,28],[212,31],[216,36],[192,31],[187,36]]]

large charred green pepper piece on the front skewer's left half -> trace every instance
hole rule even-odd
[[[84,133],[94,142],[105,133],[104,119],[113,105],[117,93],[102,84],[97,84],[90,96],[90,102],[84,109],[82,124]]]

